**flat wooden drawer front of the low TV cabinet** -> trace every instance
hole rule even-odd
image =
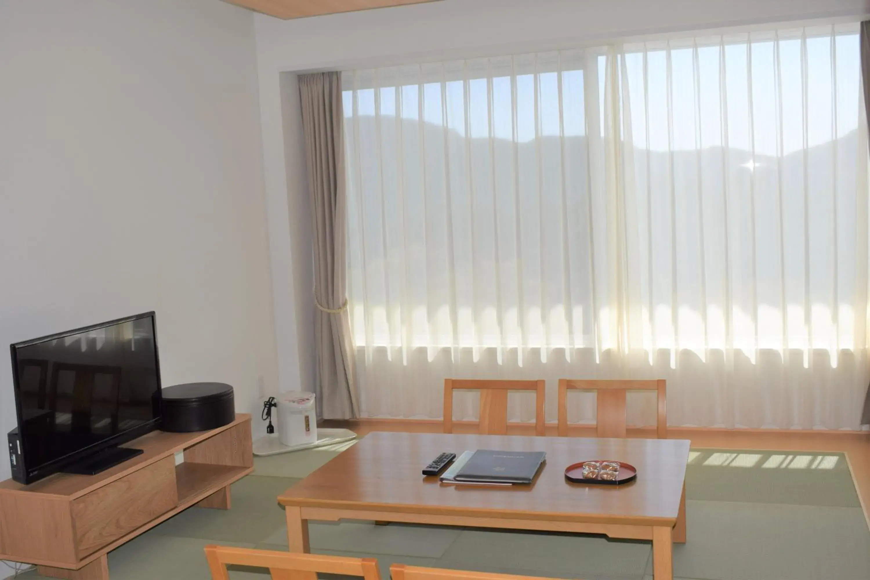
[[[175,457],[164,457],[73,500],[70,507],[78,557],[114,542],[177,503]]]

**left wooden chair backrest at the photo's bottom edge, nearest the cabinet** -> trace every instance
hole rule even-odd
[[[374,558],[291,554],[213,545],[205,546],[205,557],[209,562],[212,580],[230,580],[227,564],[268,568],[273,580],[318,580],[318,572],[380,580],[378,560]]]

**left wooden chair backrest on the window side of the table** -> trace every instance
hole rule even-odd
[[[482,435],[505,435],[507,432],[507,393],[511,390],[535,391],[535,435],[544,435],[545,381],[503,381],[445,378],[444,432],[453,432],[453,391],[480,391],[480,425]]]

